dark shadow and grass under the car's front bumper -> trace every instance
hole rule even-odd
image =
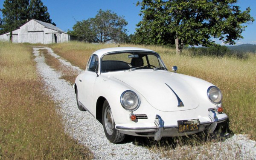
[[[136,146],[144,146],[149,148],[161,147],[166,149],[175,149],[178,146],[200,146],[211,142],[218,143],[223,142],[227,138],[233,136],[233,131],[230,130],[228,124],[229,120],[218,124],[214,133],[212,134],[201,132],[182,137],[162,137],[159,142],[155,141],[154,137],[135,137],[127,135],[122,143],[132,142]]]

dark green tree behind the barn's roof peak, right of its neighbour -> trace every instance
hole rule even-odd
[[[30,0],[29,17],[30,19],[41,20],[46,23],[52,23],[50,14],[47,11],[47,6],[44,6],[41,0]]]

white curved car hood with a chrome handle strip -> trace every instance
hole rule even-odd
[[[137,70],[114,74],[138,91],[155,109],[160,111],[184,111],[199,105],[198,95],[177,73],[169,71]],[[178,98],[184,106],[178,106]]]

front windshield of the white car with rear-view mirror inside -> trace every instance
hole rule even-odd
[[[160,56],[154,52],[115,52],[104,55],[101,60],[102,73],[121,70],[134,71],[137,69],[167,70]]]

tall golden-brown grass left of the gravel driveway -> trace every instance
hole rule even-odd
[[[54,102],[36,73],[32,49],[0,43],[0,159],[90,159],[64,133]]]

